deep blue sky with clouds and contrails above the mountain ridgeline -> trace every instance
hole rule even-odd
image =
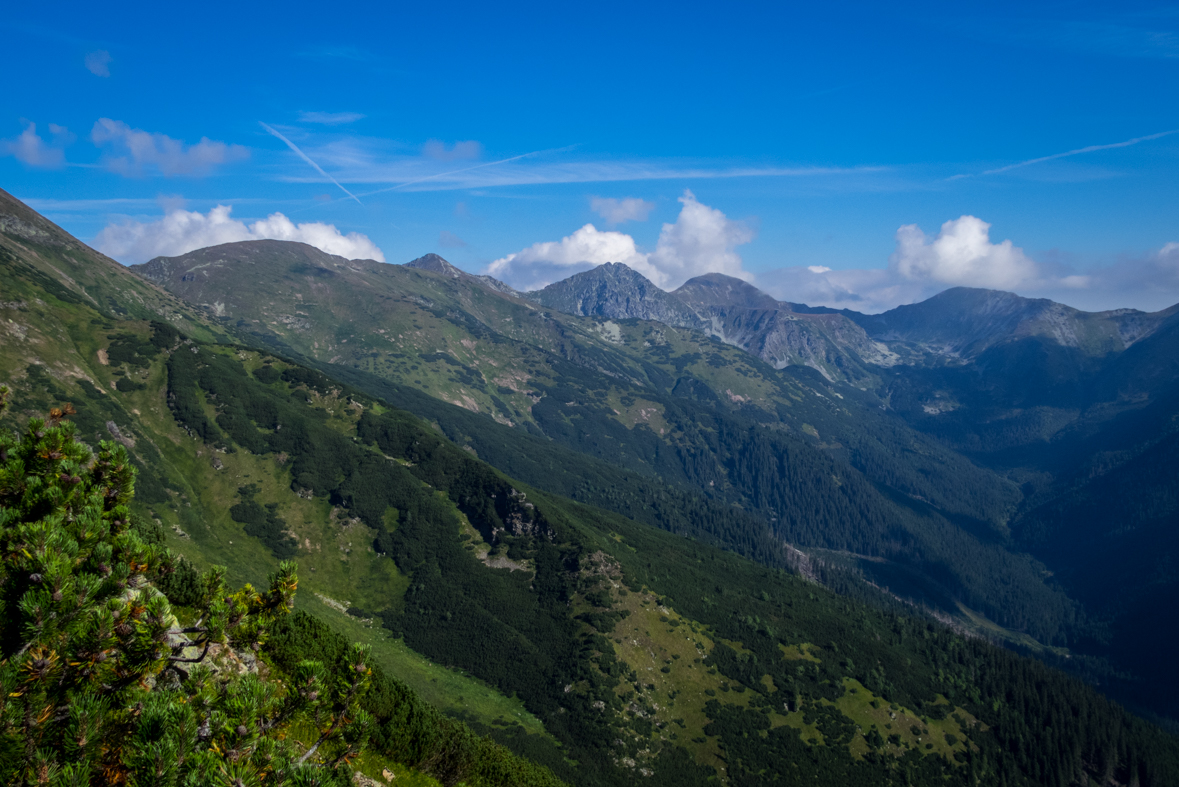
[[[27,4],[0,187],[129,263],[272,236],[518,286],[1179,302],[1179,7],[819,5]]]

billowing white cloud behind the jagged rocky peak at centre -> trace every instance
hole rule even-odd
[[[643,252],[634,238],[586,224],[560,240],[535,243],[487,267],[492,276],[519,290],[542,287],[552,282],[604,263],[623,263],[664,289],[709,272],[751,278],[742,269],[736,247],[753,239],[753,231],[720,211],[697,201],[691,191],[674,224],[664,224],[652,252]]]

